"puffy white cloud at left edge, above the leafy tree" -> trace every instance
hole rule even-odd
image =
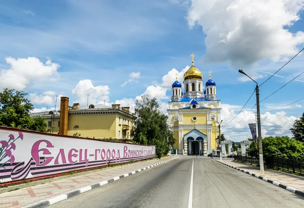
[[[57,63],[52,63],[50,59],[44,64],[36,57],[17,60],[7,57],[9,69],[0,71],[0,88],[9,88],[15,90],[25,90],[33,84],[34,81],[46,81],[57,75],[57,69],[60,67]]]

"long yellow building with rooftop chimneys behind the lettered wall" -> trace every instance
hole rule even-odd
[[[44,117],[48,131],[53,134],[73,136],[79,133],[85,138],[131,139],[135,116],[130,107],[120,107],[120,104],[79,107],[79,103],[70,107],[68,98],[61,97],[60,111],[32,113],[31,116]]]

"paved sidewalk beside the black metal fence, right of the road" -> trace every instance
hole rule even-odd
[[[216,160],[216,161],[220,162],[219,160]],[[237,161],[233,161],[233,160],[222,160],[221,163],[223,163],[225,165],[230,165],[231,167],[233,167],[235,169],[240,169],[240,171],[243,170],[243,172],[248,172],[249,175],[254,174],[255,177],[260,176],[259,167],[256,167],[254,165],[249,165],[249,164],[245,164],[245,163],[241,163],[241,162],[237,162]],[[300,192],[304,191],[304,180],[303,179],[281,174],[281,173],[278,173],[278,172],[275,172],[275,171],[272,171],[269,169],[264,170],[264,176],[260,177],[260,179],[262,179],[264,181],[267,181],[267,179],[269,179],[273,182],[277,182],[277,183],[273,183],[277,186],[279,186],[278,184],[287,186],[287,187],[280,186],[287,190],[289,190],[289,188],[291,188],[294,190],[299,190]],[[268,182],[271,182],[271,181],[268,181]],[[292,191],[294,193],[293,190],[289,190],[289,191]],[[299,195],[304,196],[303,194],[304,193],[300,193]]]

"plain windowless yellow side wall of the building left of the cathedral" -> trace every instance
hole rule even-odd
[[[74,126],[79,126],[74,129]],[[73,136],[75,133],[80,133],[81,137],[89,138],[118,138],[118,131],[122,130],[116,128],[118,126],[118,119],[116,114],[112,115],[69,115],[67,135]],[[118,129],[116,131],[116,129]]]

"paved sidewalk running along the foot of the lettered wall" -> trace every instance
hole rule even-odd
[[[178,156],[173,156],[172,159],[178,158]],[[88,186],[96,185],[97,183],[103,182],[106,184],[106,180],[118,180],[120,178],[132,175],[141,170],[150,168],[150,166],[155,166],[159,163],[164,163],[170,160],[169,157],[163,157],[161,159],[153,159],[142,162],[135,162],[128,164],[126,166],[118,166],[115,168],[109,168],[99,172],[72,177],[68,179],[63,179],[51,183],[36,185],[28,188],[23,188],[11,192],[5,192],[0,194],[0,207],[27,207],[35,205],[42,201],[52,199],[54,197],[60,198],[63,194],[70,193],[72,191],[78,190],[78,193],[88,191],[91,188]],[[132,173],[133,172],[133,173]],[[128,174],[130,173],[130,174]],[[121,176],[121,177],[120,177]],[[115,179],[113,179],[115,178]],[[110,181],[110,182],[111,182]],[[106,182],[106,183],[104,183]],[[101,184],[100,184],[101,185]],[[79,189],[84,188],[79,191]],[[94,188],[94,187],[93,187]],[[77,192],[77,191],[76,191]],[[68,195],[68,194],[67,194]],[[73,194],[70,194],[70,196]],[[65,197],[66,198],[66,197]],[[63,199],[63,198],[62,198]],[[61,199],[61,200],[62,200]],[[57,200],[58,201],[58,200]]]

